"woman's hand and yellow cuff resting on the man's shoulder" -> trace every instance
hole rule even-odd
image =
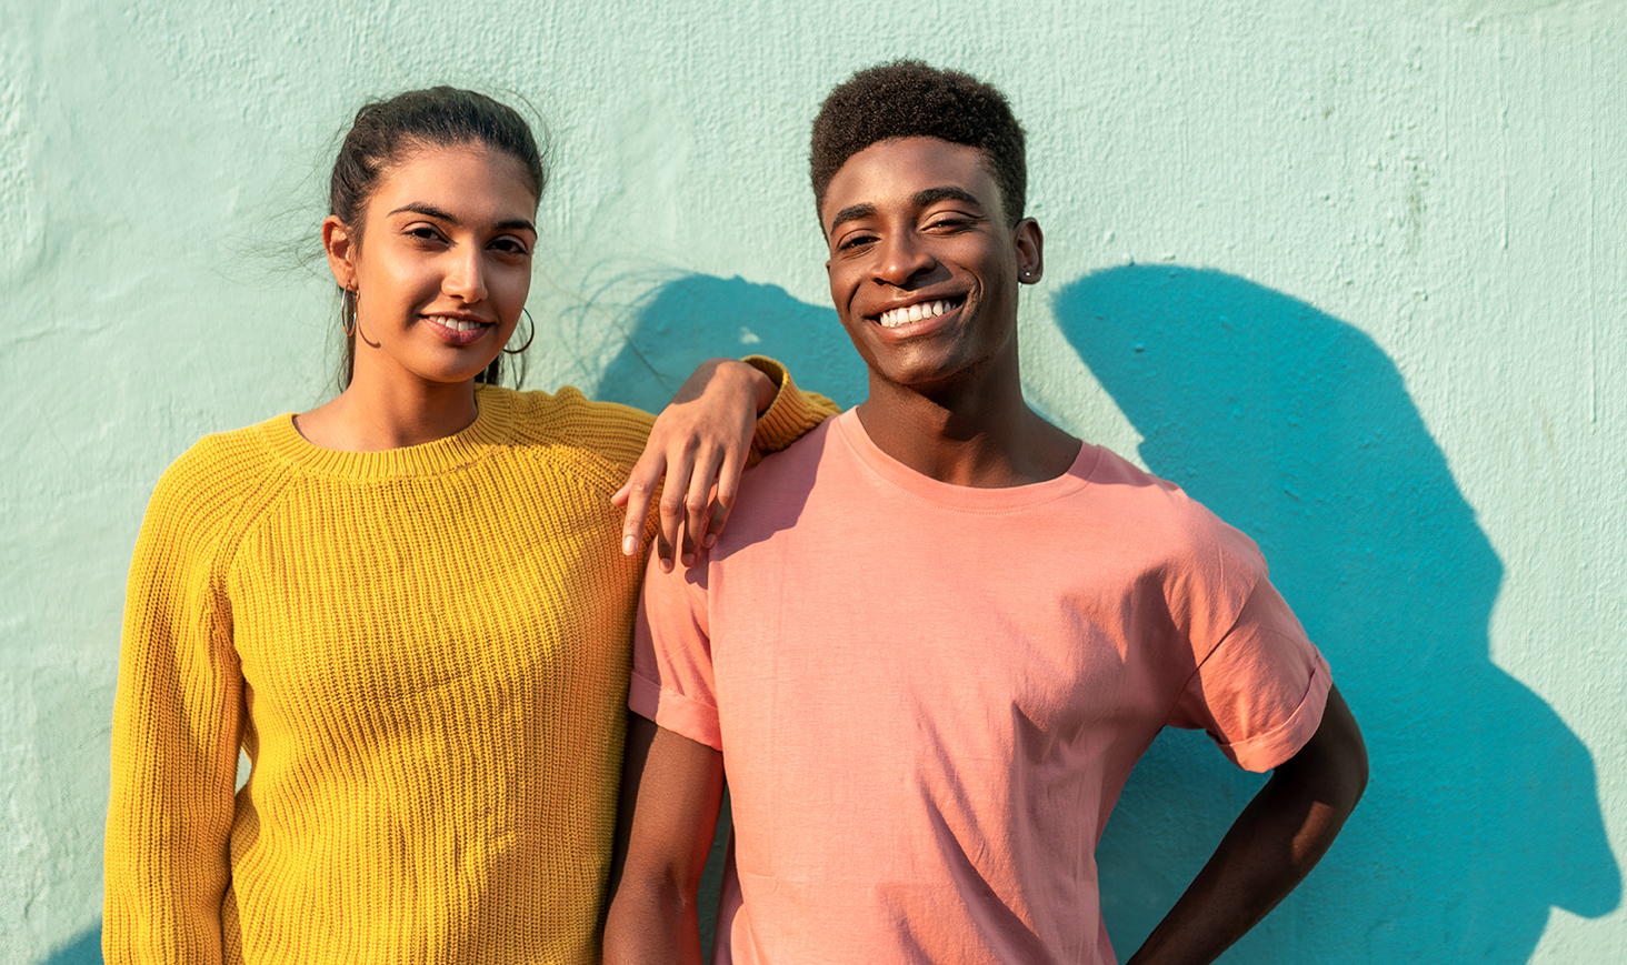
[[[656,557],[670,570],[674,549],[682,546],[683,565],[691,565],[696,546],[716,543],[729,520],[740,473],[753,457],[791,445],[836,411],[828,398],[797,390],[773,359],[701,362],[662,409],[644,455],[610,499],[626,508],[622,552],[643,549],[644,520],[661,489]]]

